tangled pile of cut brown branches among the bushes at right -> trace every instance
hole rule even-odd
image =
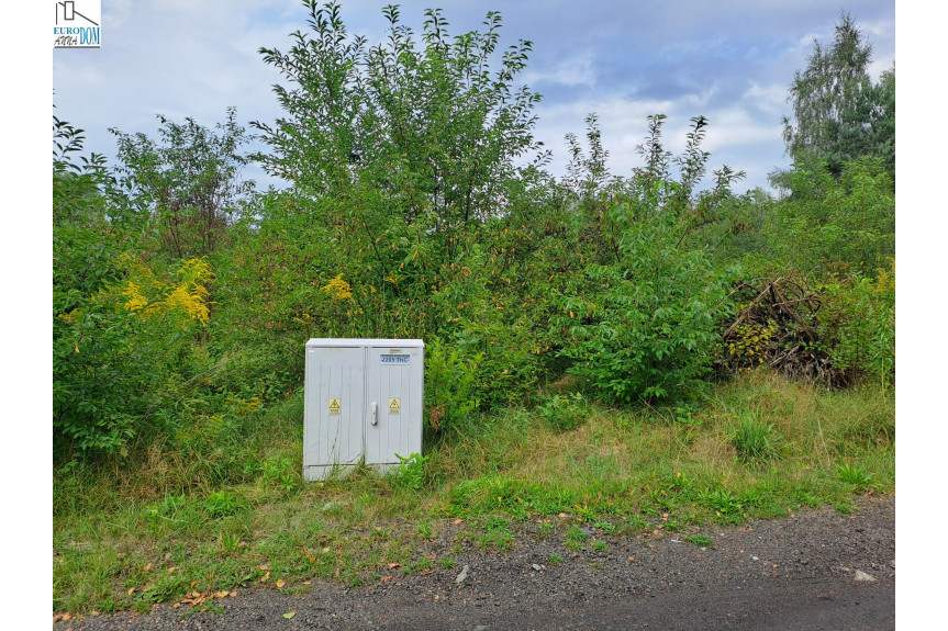
[[[722,334],[720,370],[734,373],[770,365],[790,376],[830,385],[846,381],[821,343],[821,298],[799,273],[741,281],[735,294],[738,315]]]

